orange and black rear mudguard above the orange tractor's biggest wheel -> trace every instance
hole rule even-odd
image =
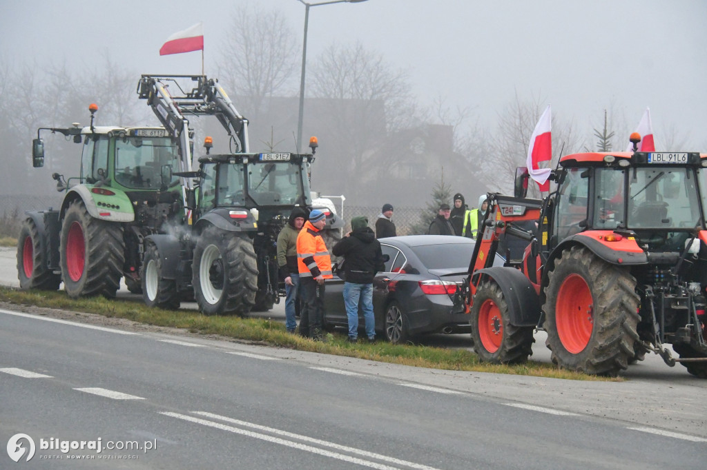
[[[612,265],[645,265],[648,264],[648,256],[638,246],[636,240],[624,236],[621,241],[605,241],[607,234],[613,234],[610,230],[590,230],[580,234],[575,234],[563,240],[552,251],[550,258],[559,256],[563,250],[569,249],[573,244],[586,246],[592,253],[597,255],[607,263]]]

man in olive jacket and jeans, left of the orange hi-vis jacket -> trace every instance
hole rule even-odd
[[[285,327],[290,333],[297,327],[296,306],[300,300],[300,272],[297,267],[297,236],[305,223],[307,212],[295,207],[287,224],[277,236],[277,265],[280,279],[285,282]]]

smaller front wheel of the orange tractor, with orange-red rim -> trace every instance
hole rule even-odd
[[[481,361],[522,363],[532,356],[534,327],[510,324],[508,303],[496,282],[484,281],[479,286],[474,295],[469,324],[472,326],[474,351]]]

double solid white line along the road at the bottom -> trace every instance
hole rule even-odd
[[[198,413],[198,412],[197,412],[197,413]],[[170,413],[170,412],[168,412],[168,411],[160,411],[160,414],[163,414],[163,415],[165,415],[165,416],[171,416],[171,417],[173,417],[173,418],[182,419],[182,420],[184,420],[184,421],[190,421],[190,422],[192,422],[192,423],[201,424],[202,426],[209,426],[209,427],[211,427],[211,428],[226,430],[226,431],[228,431],[228,432],[230,432],[230,433],[236,433],[236,434],[240,434],[240,435],[245,435],[245,436],[248,436],[248,437],[250,437],[250,438],[265,440],[265,441],[267,441],[267,442],[272,442],[272,443],[274,443],[274,444],[284,445],[284,446],[286,446],[286,447],[293,447],[294,449],[304,450],[305,452],[312,452],[312,454],[319,454],[319,455],[323,455],[323,456],[325,456],[325,457],[330,457],[330,458],[332,458],[332,459],[343,460],[344,462],[350,462],[351,464],[357,464],[357,465],[361,465],[361,466],[368,466],[368,467],[373,468],[373,469],[381,469],[381,470],[393,470],[393,469],[396,469],[396,468],[397,468],[397,467],[394,467],[394,466],[387,466],[387,465],[384,465],[384,464],[379,464],[379,463],[377,463],[377,462],[370,462],[369,460],[359,459],[358,457],[351,457],[350,455],[339,454],[338,452],[331,452],[331,451],[329,451],[329,450],[320,449],[320,448],[318,448],[318,447],[312,447],[312,446],[310,446],[310,445],[301,444],[300,442],[293,442],[293,441],[291,441],[291,440],[285,440],[285,439],[275,438],[274,436],[271,436],[271,435],[266,435],[266,434],[261,434],[261,433],[254,433],[254,432],[252,432],[252,431],[250,431],[250,430],[245,430],[245,429],[241,429],[241,428],[234,428],[233,426],[227,426],[226,424],[215,423],[214,421],[207,421],[207,420],[201,419],[201,418],[194,418],[194,416],[187,416],[187,415],[185,415],[185,414],[178,414],[178,413]],[[206,416],[218,416],[218,415],[211,415],[211,414],[207,414],[207,413],[201,413],[201,414],[205,414]],[[265,426],[259,426],[259,425],[254,424],[254,423],[245,423],[244,421],[231,420],[230,418],[226,418],[225,416],[224,416],[224,417],[220,417],[220,418],[223,419],[224,421],[229,421],[229,422],[233,422],[233,423],[239,423],[239,424],[242,424],[243,426],[248,426],[248,427],[252,427],[252,428],[257,428],[257,429],[262,429],[262,430],[268,430],[269,432],[272,432],[272,433],[279,433],[279,434],[282,434],[282,435],[288,435],[288,434],[289,434],[289,433],[286,433],[285,431],[281,431],[281,430],[277,430],[277,429],[272,429],[272,428],[266,428]],[[298,438],[298,439],[303,439],[303,438],[304,438],[303,440],[310,440],[310,442],[317,442],[317,440],[313,440],[313,439],[310,439],[310,438],[306,438],[306,436],[298,436],[298,435],[292,435],[292,436],[296,436],[296,438]],[[320,441],[320,442],[325,442],[324,445],[329,445],[329,447],[334,447],[334,445],[333,445],[332,442],[326,442],[326,441]],[[344,450],[344,449],[345,449],[347,452],[355,452],[355,453],[358,453],[358,454],[363,454],[363,452],[365,452],[365,451],[362,451],[362,450],[354,449],[354,448],[352,448],[352,447],[344,447],[344,446],[341,446],[341,450]],[[419,465],[419,464],[414,464],[414,463],[412,463],[412,462],[405,462],[404,460],[392,459],[391,457],[385,457],[385,456],[383,456],[383,455],[381,455],[380,457],[378,457],[378,454],[373,454],[373,453],[368,453],[368,452],[366,452],[365,454],[366,454],[367,457],[373,457],[373,458],[376,458],[376,459],[378,459],[378,458],[380,458],[380,457],[383,457],[383,460],[386,460],[386,461],[388,461],[388,462],[394,462],[394,461],[395,461],[395,463],[397,463],[397,464],[403,464],[403,465],[407,465],[407,466],[412,466],[413,468],[416,468],[416,469],[436,470],[436,469],[434,469],[433,467],[423,466],[423,465]]]

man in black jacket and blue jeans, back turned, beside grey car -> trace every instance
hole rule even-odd
[[[358,303],[366,320],[368,342],[375,342],[373,277],[385,269],[380,243],[368,227],[368,218],[351,219],[351,231],[334,245],[332,253],[344,256],[344,305],[349,319],[349,341],[358,341]]]

